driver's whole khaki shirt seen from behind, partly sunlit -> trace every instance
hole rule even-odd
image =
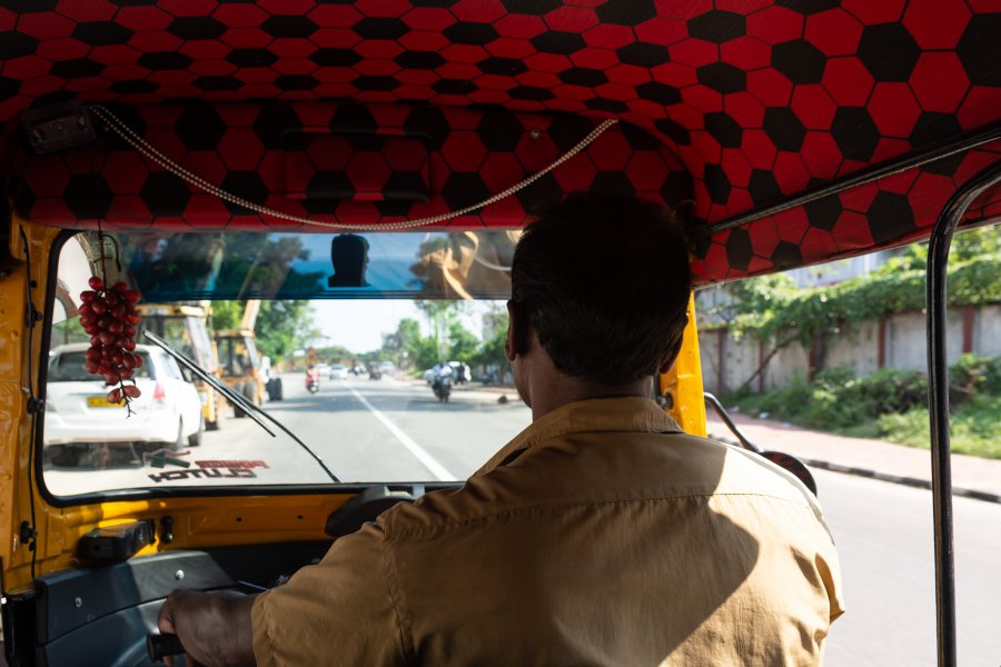
[[[258,597],[258,665],[815,665],[843,611],[812,495],[653,401],[564,406]]]

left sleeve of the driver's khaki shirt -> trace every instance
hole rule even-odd
[[[260,667],[405,664],[378,524],[339,538],[318,565],[257,597],[251,611]]]

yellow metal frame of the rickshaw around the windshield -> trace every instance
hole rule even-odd
[[[34,475],[37,461],[30,456],[31,417],[28,415],[28,374],[37,378],[44,358],[41,345],[46,322],[32,332],[28,356],[24,286],[34,281],[32,300],[37,308],[46,306],[48,277],[53,243],[59,229],[42,227],[14,218],[11,251],[24,258],[20,230],[28,238],[31,276],[27,265],[0,280],[0,558],[3,564],[3,593],[28,590],[32,586],[31,551],[21,544],[22,521],[30,521],[34,506],[38,532],[36,575],[57,571],[75,565],[79,538],[99,527],[141,520],[174,520],[174,541],[157,541],[139,555],[165,549],[206,548],[283,541],[329,539],[323,531],[326,517],[343,506],[353,491],[308,495],[211,495],[187,498],[160,498],[95,502],[58,507],[41,494]],[[688,306],[688,326],[674,368],[660,378],[662,395],[671,396],[668,411],[688,432],[705,434],[705,406],[693,302]],[[39,416],[41,418],[41,416]],[[29,481],[30,479],[30,481]],[[242,489],[246,491],[246,489]],[[252,490],[252,489],[251,489]]]

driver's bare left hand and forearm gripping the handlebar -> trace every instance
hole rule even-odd
[[[188,665],[254,665],[250,608],[255,596],[239,593],[175,590],[157,619],[161,633],[172,633],[185,647]],[[172,667],[174,658],[165,658]]]

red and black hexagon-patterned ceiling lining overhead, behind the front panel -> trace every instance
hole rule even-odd
[[[220,115],[224,104],[261,99],[350,99],[611,116],[663,142],[666,151],[642,149],[662,166],[676,165],[663,156],[680,158],[691,177],[672,182],[691,178],[695,219],[706,225],[997,121],[998,34],[1001,8],[991,0],[7,0],[0,121],[12,126],[28,106],[66,96],[126,106],[198,100]],[[871,199],[872,188],[846,192],[838,205],[720,233],[700,245],[698,276],[725,279],[920,237],[969,166],[993,152],[915,171],[909,183],[886,180],[878,186],[885,195]],[[252,150],[217,153],[249,161]],[[98,162],[112,157],[126,159]],[[447,182],[445,165],[430,178]],[[664,189],[668,173],[654,187],[645,168],[599,171],[636,191],[676,193]],[[36,206],[54,197],[29,181]],[[109,210],[128,197],[112,189]],[[992,199],[978,212],[993,213]],[[205,211],[220,207],[206,202]],[[484,222],[515,218],[485,213]],[[209,219],[228,220],[197,223]]]

